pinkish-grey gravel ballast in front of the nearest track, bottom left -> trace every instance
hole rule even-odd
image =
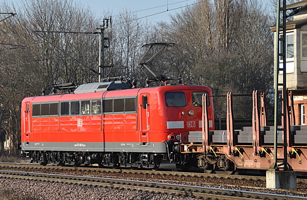
[[[54,200],[54,199],[136,199],[136,200],[194,200],[170,194],[145,193],[132,190],[76,186],[64,183],[48,183],[33,180],[0,178],[0,199]]]

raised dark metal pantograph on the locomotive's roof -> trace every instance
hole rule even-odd
[[[150,50],[152,50],[152,48],[154,46],[161,46],[161,48],[155,53],[153,54],[153,56],[151,56],[148,60],[145,61],[146,56],[149,54]],[[158,54],[160,54],[162,52],[163,49],[165,49],[165,47],[177,47],[177,44],[174,43],[167,43],[167,42],[162,42],[162,43],[150,43],[150,44],[144,44],[141,48],[143,47],[149,47],[146,51],[146,53],[144,54],[144,56],[142,57],[139,65],[141,65],[141,69],[143,67],[145,67],[152,75],[153,75],[153,79],[146,79],[146,84],[148,85],[149,81],[162,81],[165,82],[167,80],[173,80],[170,78],[165,77],[165,75],[157,75],[156,73],[154,73],[148,66],[148,63],[153,60],[153,58],[155,58]],[[143,71],[143,69],[142,69]],[[144,72],[144,71],[143,71]],[[144,72],[145,73],[145,72]],[[146,75],[146,73],[145,73]],[[147,76],[147,75],[146,75]],[[147,83],[148,82],[148,83]]]

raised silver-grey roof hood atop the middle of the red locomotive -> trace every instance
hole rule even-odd
[[[122,83],[121,81],[85,83],[77,87],[74,93],[80,94],[87,92],[101,92],[107,90],[118,90],[118,89],[128,89],[128,88],[131,88],[130,84]]]

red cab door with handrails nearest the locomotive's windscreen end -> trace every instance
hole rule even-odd
[[[139,114],[140,114],[140,144],[143,146],[149,145],[150,131],[150,104],[149,93],[140,95]]]

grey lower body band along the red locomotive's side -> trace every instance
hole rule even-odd
[[[138,142],[22,142],[21,150],[165,153],[166,145],[163,142],[151,142],[147,145]]]

